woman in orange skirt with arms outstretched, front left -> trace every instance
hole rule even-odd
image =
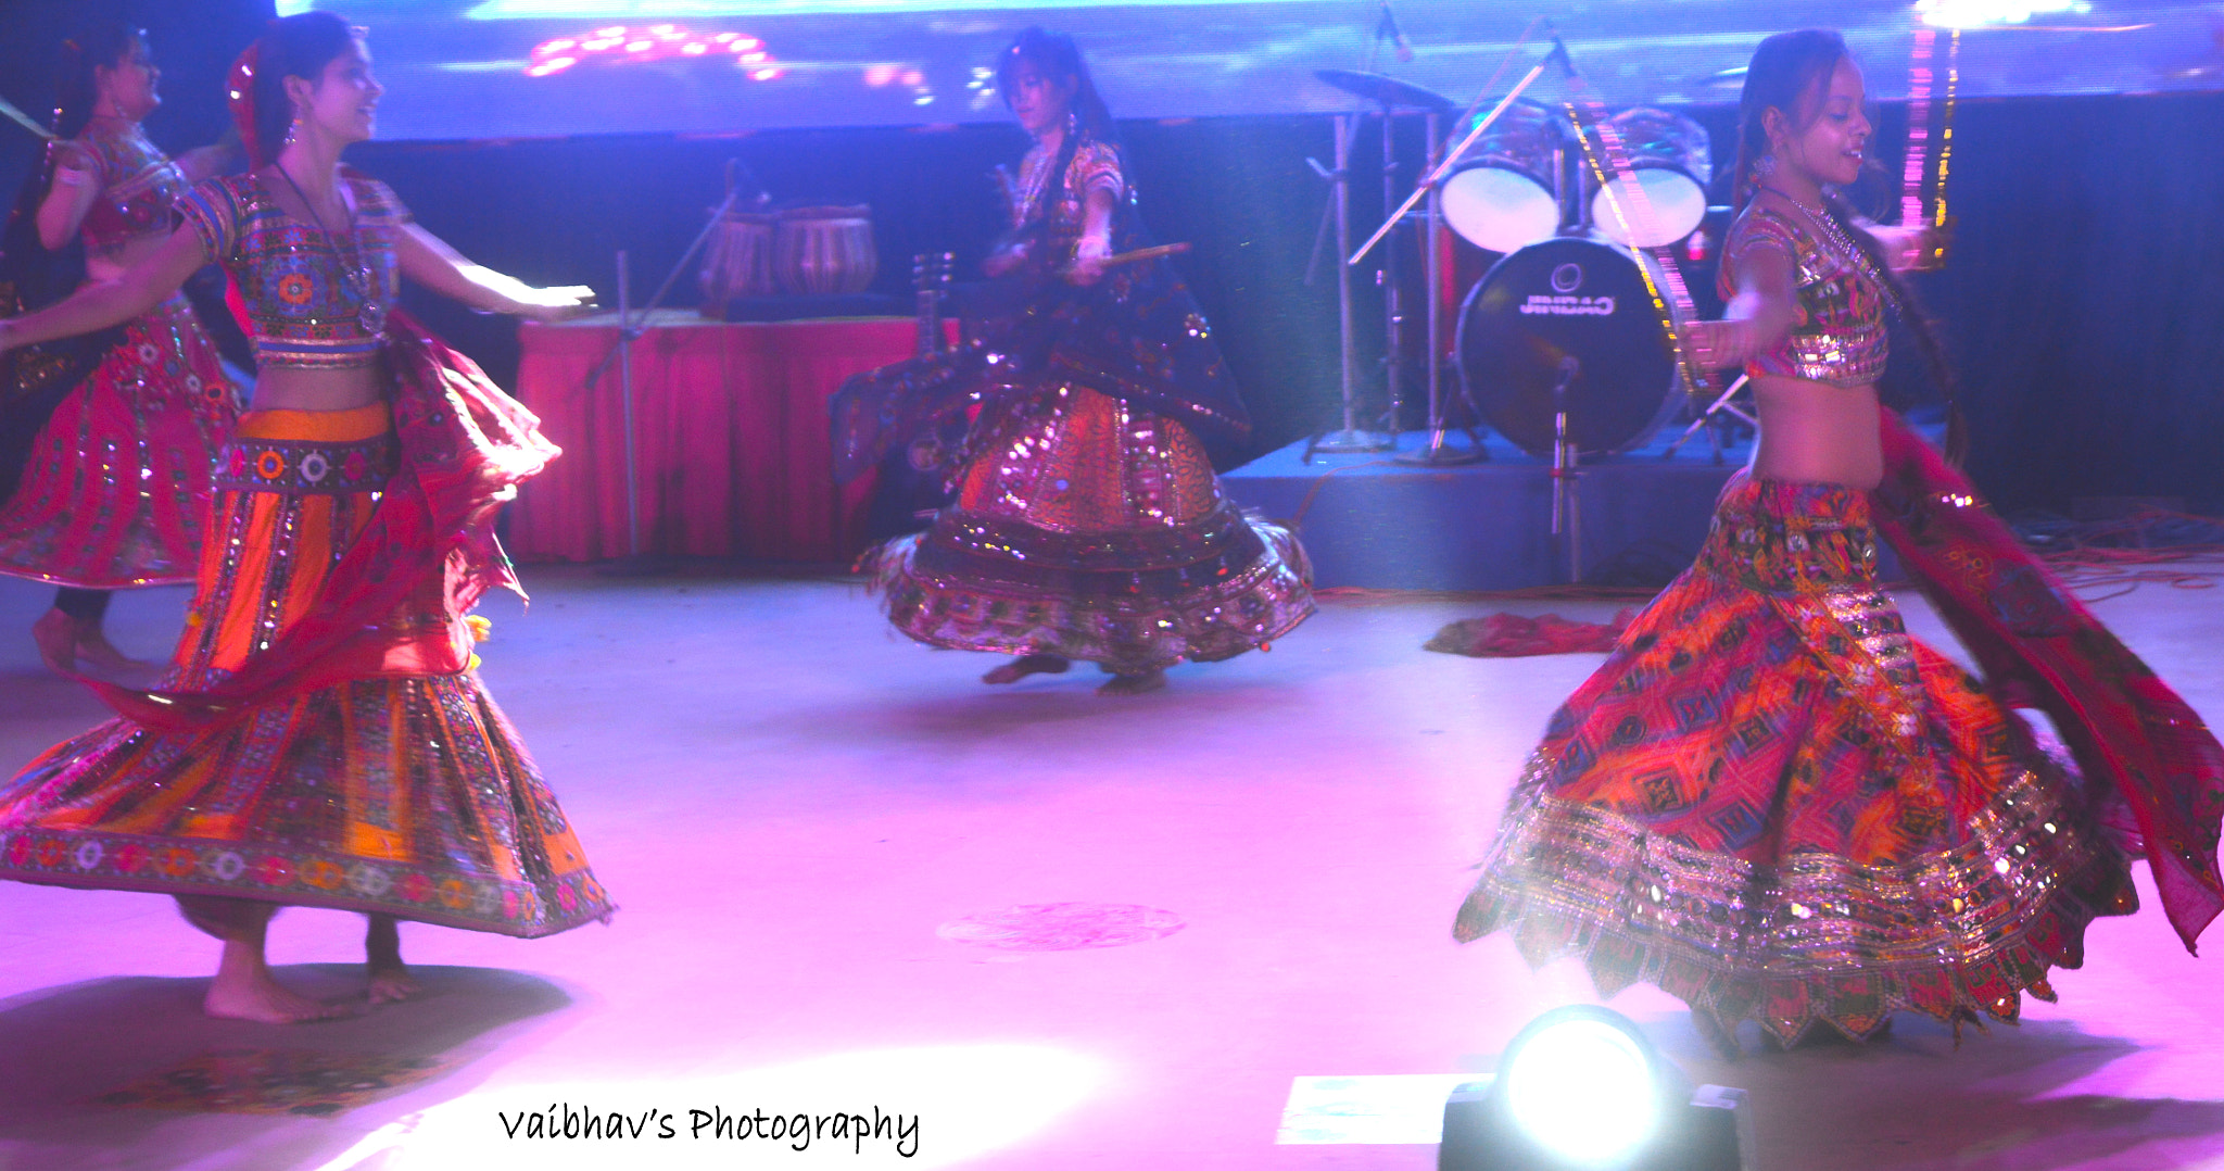
[[[396,919],[536,937],[609,915],[465,621],[516,588],[494,514],[556,450],[394,312],[403,274],[534,318],[585,289],[469,265],[340,167],[383,89],[338,16],[278,20],[231,91],[256,169],[196,185],[185,227],[116,283],[0,323],[0,347],[96,329],[216,260],[260,370],[169,675],[91,681],[122,719],[0,786],[0,877],[176,895],[225,944],[207,1011],[285,1022],[338,1008],[271,980],[280,904],[369,913],[371,1002],[411,991]]]

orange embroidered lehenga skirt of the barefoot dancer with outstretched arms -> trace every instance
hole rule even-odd
[[[240,416],[162,690],[207,688],[282,639],[371,519],[394,465],[385,405]],[[387,617],[389,659],[414,641],[438,650],[467,639],[458,626],[431,579]],[[111,719],[0,786],[0,877],[523,937],[609,913],[525,744],[471,670],[342,679],[205,730]]]

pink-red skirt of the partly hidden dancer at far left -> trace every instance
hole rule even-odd
[[[0,572],[87,590],[193,581],[234,414],[185,296],[131,321],[47,419],[22,481],[0,485]]]

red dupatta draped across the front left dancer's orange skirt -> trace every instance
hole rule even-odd
[[[427,661],[389,646],[385,619],[431,581],[440,583],[447,614],[465,614],[496,586],[525,597],[494,539],[494,516],[518,483],[556,459],[556,445],[471,358],[398,309],[387,318],[385,358],[400,468],[316,606],[207,690],[149,692],[85,679],[125,719],[158,732],[211,728],[342,679],[463,670],[463,652]]]

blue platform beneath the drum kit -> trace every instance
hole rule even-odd
[[[1715,496],[1753,443],[1706,436],[1664,459],[1681,425],[1635,452],[1581,465],[1583,574],[1595,586],[1666,586],[1706,541]],[[1399,452],[1426,434],[1399,436]],[[1466,445],[1466,434],[1454,434]],[[1486,434],[1483,463],[1421,468],[1392,452],[1314,454],[1292,443],[1221,476],[1243,508],[1292,523],[1317,586],[1374,590],[1521,590],[1568,581],[1552,537],[1552,468]]]

